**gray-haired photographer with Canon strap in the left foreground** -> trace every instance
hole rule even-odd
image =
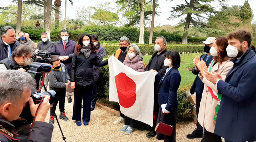
[[[30,95],[31,89],[35,87],[35,80],[27,72],[15,70],[3,71],[0,73],[0,78],[2,91],[0,102],[1,141],[19,140],[19,133],[15,134],[17,133],[17,129],[11,122],[20,118],[19,116],[27,103],[29,103],[32,116],[35,117],[28,141],[51,141],[53,125],[45,122],[50,109],[50,97],[44,95],[44,100],[39,108],[39,104],[34,104]],[[30,128],[24,127],[22,131],[29,132],[29,130]]]

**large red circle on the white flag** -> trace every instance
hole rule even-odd
[[[119,104],[130,108],[136,101],[136,84],[123,72],[115,76]]]

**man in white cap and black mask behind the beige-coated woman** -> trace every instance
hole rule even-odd
[[[212,56],[210,54],[210,49],[213,46],[213,42],[216,40],[215,37],[208,37],[206,41],[202,41],[201,43],[204,43],[204,52],[207,54],[203,54],[200,56],[200,59],[203,59],[206,63],[207,67],[212,61]],[[198,77],[199,70],[196,67],[196,63],[194,62],[195,67],[192,70],[192,73],[196,75],[196,79],[191,86],[190,93],[194,94],[196,93],[196,116],[198,117],[199,113],[199,107],[200,102],[202,99],[202,93],[204,89],[204,83],[201,81],[201,79]],[[203,138],[203,127],[196,122],[196,130],[192,132],[192,134],[188,134],[187,138]],[[204,138],[202,139],[204,141]]]

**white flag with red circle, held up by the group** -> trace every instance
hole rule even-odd
[[[115,56],[109,57],[108,65],[109,101],[118,102],[125,116],[152,127],[156,72],[134,71]]]

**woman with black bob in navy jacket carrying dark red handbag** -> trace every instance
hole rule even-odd
[[[158,104],[160,106],[157,123],[172,125],[173,131],[171,136],[167,136],[161,133],[157,133],[156,138],[164,141],[176,141],[176,118],[177,118],[177,90],[180,87],[180,54],[177,51],[168,51],[164,55],[164,66],[169,66],[166,70],[164,77],[161,78],[158,87]],[[160,75],[157,74],[159,78]],[[166,104],[164,110],[161,105]]]

